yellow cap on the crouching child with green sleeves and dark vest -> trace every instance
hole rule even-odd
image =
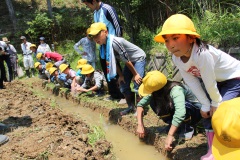
[[[167,84],[167,77],[159,71],[148,72],[138,89],[141,96],[147,96],[163,88]]]

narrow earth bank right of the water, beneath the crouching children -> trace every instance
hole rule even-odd
[[[104,101],[103,97],[96,97],[92,95],[72,96],[69,91],[60,90],[56,92],[52,86],[46,85],[45,89],[49,93],[65,98],[69,101],[78,103],[82,107],[87,107],[95,112],[99,112],[109,119],[113,124],[117,124],[125,130],[136,135],[137,119],[134,114],[120,116],[120,112],[125,109],[126,105],[118,105],[117,102]],[[147,136],[144,139],[139,139],[148,145],[153,145],[158,152],[166,155],[169,159],[174,160],[196,160],[200,159],[202,155],[207,152],[206,136],[202,128],[196,128],[194,137],[191,140],[184,141],[175,138],[174,149],[172,152],[165,152],[164,140],[165,133],[160,133],[158,130],[166,124],[160,120],[151,109],[148,110],[144,116],[144,124],[147,131]]]

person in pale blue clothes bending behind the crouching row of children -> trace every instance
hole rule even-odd
[[[96,43],[92,40],[92,38],[88,36],[88,33],[89,33],[89,29],[87,29],[87,32],[86,32],[87,36],[80,39],[80,41],[74,45],[74,49],[76,52],[82,55],[83,59],[87,60],[88,64],[93,66],[93,68],[95,69],[96,61],[97,61]],[[79,50],[79,46],[83,47],[83,51]]]

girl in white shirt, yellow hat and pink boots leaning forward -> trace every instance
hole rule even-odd
[[[191,19],[183,14],[169,17],[154,40],[165,43],[184,81],[202,104],[209,150],[201,159],[213,159],[211,116],[222,101],[239,97],[240,62],[204,44]]]

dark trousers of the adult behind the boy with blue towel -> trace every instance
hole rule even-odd
[[[104,76],[107,80],[107,66],[106,66],[106,59],[100,59],[100,64],[104,73]],[[120,66],[119,62],[117,62],[117,65]],[[116,76],[116,78],[111,79],[111,81],[109,82],[107,80],[107,84],[108,84],[108,92],[111,95],[112,98],[115,99],[121,99],[124,98],[123,94],[120,92],[119,86],[118,86],[118,76]]]

